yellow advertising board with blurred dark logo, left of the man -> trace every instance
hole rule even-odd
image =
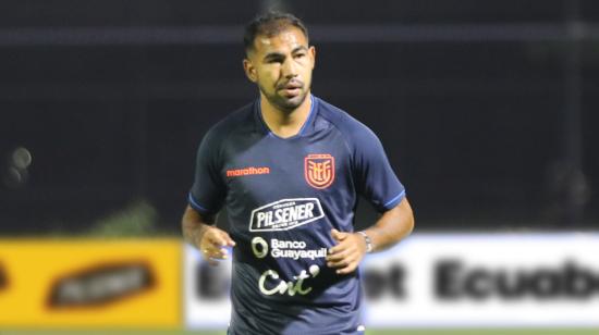
[[[0,240],[0,327],[181,327],[178,239]]]

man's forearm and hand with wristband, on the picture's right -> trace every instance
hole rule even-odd
[[[371,252],[388,249],[405,238],[414,228],[412,207],[404,198],[398,206],[386,211],[369,228],[363,231],[372,246]],[[357,269],[367,251],[366,236],[360,233],[331,231],[337,245],[329,249],[327,265],[338,274],[347,274]]]

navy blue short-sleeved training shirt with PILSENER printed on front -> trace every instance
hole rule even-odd
[[[363,334],[359,272],[326,262],[330,231],[353,232],[358,195],[380,212],[405,196],[377,136],[310,96],[293,137],[274,135],[260,101],[215,125],[197,153],[190,204],[222,207],[235,240],[229,333]]]

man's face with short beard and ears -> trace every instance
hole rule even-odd
[[[309,92],[315,55],[302,30],[290,26],[273,37],[256,36],[243,65],[272,106],[291,112]]]

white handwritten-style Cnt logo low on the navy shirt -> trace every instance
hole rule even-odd
[[[260,288],[260,291],[267,296],[272,296],[276,294],[286,294],[291,297],[296,294],[305,296],[311,291],[311,287],[305,287],[304,281],[315,278],[319,273],[320,268],[313,264],[308,271],[302,270],[298,275],[294,275],[293,281],[285,282],[279,280],[279,273],[277,271],[267,270],[262,273],[262,275],[260,275],[258,287]],[[267,283],[267,281],[270,283]]]

